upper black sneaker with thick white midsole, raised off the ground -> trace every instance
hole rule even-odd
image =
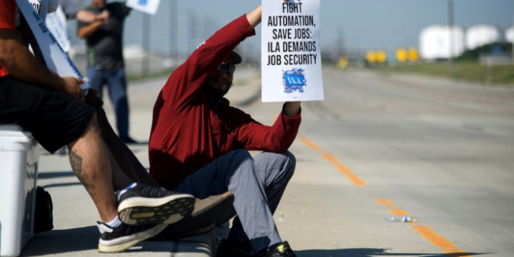
[[[195,197],[137,184],[120,196],[118,216],[128,225],[171,224],[189,217]]]

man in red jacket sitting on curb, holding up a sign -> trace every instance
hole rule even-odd
[[[260,19],[258,7],[206,40],[171,74],[154,106],[150,175],[199,198],[234,193],[237,217],[218,256],[295,256],[273,212],[295,170],[287,150],[298,132],[300,103],[286,102],[266,126],[223,98],[242,61],[233,50],[254,36]],[[252,158],[248,150],[264,152]]]

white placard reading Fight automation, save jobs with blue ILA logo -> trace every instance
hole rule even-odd
[[[323,100],[320,0],[262,0],[262,101]]]

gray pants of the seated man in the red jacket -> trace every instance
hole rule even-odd
[[[252,158],[246,150],[232,151],[189,175],[177,191],[203,199],[230,191],[234,210],[221,223],[237,214],[228,240],[252,243],[256,252],[282,242],[273,213],[295,171],[291,152],[263,152]]]

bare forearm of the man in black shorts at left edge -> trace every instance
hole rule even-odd
[[[39,60],[27,47],[16,40],[16,34],[10,29],[0,29],[0,64],[8,73],[25,82],[40,84],[58,90],[77,99],[84,99],[84,92],[79,88],[81,79],[59,77]]]

